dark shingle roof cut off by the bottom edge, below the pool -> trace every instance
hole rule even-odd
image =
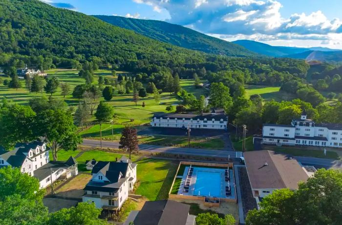
[[[146,202],[134,225],[185,225],[190,206],[171,200]]]

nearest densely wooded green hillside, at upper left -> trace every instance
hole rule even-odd
[[[168,66],[204,58],[203,53],[38,0],[0,1],[0,39],[0,66],[10,63],[14,56],[39,67],[51,64],[51,60],[59,67],[96,60],[130,69],[137,64]]]

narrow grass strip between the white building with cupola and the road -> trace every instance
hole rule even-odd
[[[269,146],[266,147],[266,149]],[[326,155],[324,155],[323,150],[312,150],[312,149],[301,149],[301,148],[291,148],[291,147],[275,147],[271,148],[276,152],[282,152],[285,154],[290,154],[293,156],[309,156],[309,157],[317,157],[317,158],[326,158],[326,159],[340,159],[339,155],[335,151],[326,151]]]

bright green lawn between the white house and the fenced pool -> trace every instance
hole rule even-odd
[[[167,199],[176,169],[177,165],[168,160],[146,158],[138,161],[139,187],[135,193],[150,201]]]

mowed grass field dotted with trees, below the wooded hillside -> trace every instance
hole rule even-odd
[[[78,75],[77,70],[64,70],[64,69],[56,69],[46,71],[48,77],[57,77],[60,82],[68,83],[71,86],[71,92],[65,96],[65,102],[71,106],[77,106],[79,104],[79,99],[75,99],[72,97],[71,93],[73,88],[76,85],[85,83],[85,79]],[[127,72],[117,72],[118,74],[127,74]],[[117,76],[112,76],[109,70],[98,70],[94,72],[94,85],[98,85],[98,77],[99,75],[104,76],[104,78],[108,78],[110,81],[117,78]],[[3,79],[10,79],[9,77],[2,77]],[[32,97],[36,96],[49,96],[49,94],[41,93],[29,93],[25,87],[25,81],[21,80],[22,88],[16,90],[8,88],[7,86],[0,85],[0,100],[3,97],[6,97],[8,100],[16,102],[18,104],[27,104],[28,100]],[[181,86],[189,93],[195,94],[199,96],[201,94],[205,94],[205,89],[195,89],[193,85],[193,80],[181,80]],[[54,98],[63,98],[61,95],[61,89],[58,88],[58,91],[52,95]],[[160,103],[156,103],[153,95],[149,94],[147,97],[140,98],[137,105],[132,102],[133,94],[118,94],[116,88],[114,87],[114,95],[110,101],[107,101],[109,104],[114,106],[115,114],[117,116],[116,122],[128,122],[130,119],[134,119],[134,124],[142,124],[150,121],[150,118],[154,112],[165,112],[165,109],[168,105],[172,104],[180,104],[181,99],[177,99],[174,95],[170,93],[162,93],[161,94]],[[101,96],[99,99],[104,100]],[[142,107],[142,103],[145,102],[145,107]],[[91,117],[94,119],[94,116]],[[129,121],[130,122],[130,121]],[[131,122],[130,122],[131,123]]]

